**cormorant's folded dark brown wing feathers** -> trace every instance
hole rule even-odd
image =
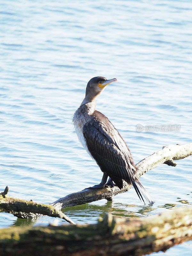
[[[112,139],[113,129],[115,128],[108,118],[99,111],[95,112],[93,120],[83,127],[87,148],[100,166],[101,171],[106,172],[116,185],[122,188],[122,179],[130,184],[132,180],[135,180],[133,173],[136,169],[129,170],[126,156],[124,156],[119,146]],[[129,150],[128,147],[127,150]],[[132,159],[130,160],[132,161]],[[132,165],[134,166],[134,163]]]

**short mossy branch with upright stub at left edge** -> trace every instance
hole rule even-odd
[[[0,194],[0,210],[10,212],[18,217],[31,217],[31,213],[43,214],[51,217],[58,217],[75,224],[63,212],[56,210],[52,205],[38,204],[32,201],[21,200],[10,196],[5,196],[9,188],[6,187],[4,192]],[[28,215],[29,213],[30,215]],[[33,217],[33,215],[32,215]]]

